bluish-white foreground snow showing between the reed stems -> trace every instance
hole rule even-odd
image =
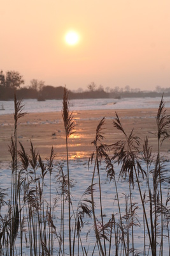
[[[57,166],[58,166],[58,162],[55,163],[55,167],[52,173],[52,197],[55,198],[57,196],[56,191],[60,192],[60,188],[59,188],[59,184],[56,183],[56,178],[55,175],[58,172]],[[67,173],[67,165],[66,165],[66,161],[61,161],[60,164],[63,165],[63,170],[64,173]],[[153,166],[151,167],[151,169],[153,168]],[[168,177],[168,171],[170,168],[170,162],[166,161],[166,175]],[[88,161],[87,159],[77,159],[77,160],[71,160],[69,161],[69,173],[70,173],[70,179],[73,180],[73,188],[71,188],[71,200],[73,203],[73,209],[74,212],[76,212],[76,207],[78,204],[78,201],[81,198],[81,195],[83,195],[83,193],[85,192],[85,189],[87,189],[91,182],[92,182],[92,173],[94,170],[94,164],[90,165],[90,168],[88,168]],[[97,171],[96,171],[97,172]],[[119,200],[120,200],[120,208],[121,208],[121,212],[122,212],[122,216],[125,214],[125,195],[129,195],[129,182],[126,179],[120,179],[119,177],[119,172],[120,172],[120,167],[115,165],[115,173],[116,173],[116,180],[117,180],[117,186],[118,186],[118,196],[119,196]],[[40,170],[38,169],[36,172],[36,176],[38,177],[38,175],[40,175]],[[100,167],[100,175],[101,175],[101,191],[102,191],[102,203],[103,203],[103,215],[104,215],[104,223],[108,222],[111,219],[111,214],[115,214],[115,218],[118,221],[118,205],[117,205],[117,200],[116,200],[116,192],[115,192],[115,185],[114,182],[107,179],[106,177],[106,171],[105,171],[105,166],[104,163],[101,165]],[[1,177],[1,184],[0,184],[0,188],[8,188],[8,193],[10,195],[10,182],[11,182],[11,170],[9,168],[9,166],[5,166],[5,164],[1,164],[1,170],[0,170],[0,177]],[[2,182],[2,180],[5,180],[5,182]],[[99,186],[98,186],[98,175],[96,173],[95,178],[94,178],[94,183],[96,183],[96,185],[94,186],[95,188],[95,192],[94,192],[94,200],[96,203],[96,217],[97,219],[100,221],[101,220],[101,213],[100,213],[100,208],[99,208]],[[142,189],[142,193],[144,193],[146,191],[146,179],[143,180],[140,177],[140,182],[141,182],[141,189]],[[150,175],[150,184],[152,183],[152,175]],[[45,199],[47,202],[49,202],[49,173],[46,174],[45,177],[45,184],[46,184],[46,188],[45,188]],[[138,216],[138,220],[139,223],[141,225],[141,227],[134,227],[134,247],[138,248],[138,250],[140,250],[141,252],[143,252],[143,246],[144,246],[144,241],[143,241],[143,211],[142,210],[142,205],[141,205],[141,200],[139,197],[139,190],[138,190],[138,186],[137,183],[135,182],[135,186],[134,186],[134,191],[132,191],[132,201],[136,202],[136,204],[138,205],[139,209],[137,211],[137,216]],[[168,180],[167,182],[164,183],[163,186],[163,201],[166,202],[166,196],[167,193],[169,191],[169,183]],[[146,195],[147,192],[146,192]],[[59,196],[59,195],[58,195]],[[8,197],[6,197],[8,198]],[[60,198],[60,196],[59,196]],[[90,199],[90,198],[89,198]],[[57,208],[55,209],[55,211],[53,212],[53,222],[55,223],[56,227],[58,228],[58,232],[59,232],[59,228],[60,228],[60,199],[58,199],[57,201]],[[146,204],[147,205],[147,204]],[[1,209],[1,214],[3,215],[7,209],[7,207],[3,207]],[[149,210],[149,207],[146,206],[146,209]],[[147,216],[149,216],[149,212],[146,212]],[[68,211],[68,204],[66,202],[65,204],[65,223],[64,223],[64,232],[65,232],[65,236],[67,237],[68,234],[68,218],[67,218],[67,211]],[[72,216],[72,227],[74,228],[74,218]],[[89,248],[89,254],[88,255],[92,255],[92,250],[94,248],[94,244],[96,243],[96,238],[94,236],[94,229],[93,229],[93,220],[91,220],[90,218],[85,218],[86,221],[88,221],[88,223],[85,225],[85,227],[82,228],[81,231],[81,239],[83,241],[83,246],[85,246],[85,248]],[[88,230],[90,231],[89,237],[86,241],[86,234],[88,232]],[[164,231],[164,234],[167,234],[167,231]],[[19,236],[19,234],[18,234]],[[72,233],[73,236],[73,233]],[[131,236],[130,236],[131,239]],[[17,243],[19,241],[19,238],[17,239]],[[146,236],[146,243],[148,242],[148,236]],[[108,243],[107,243],[108,244]],[[68,248],[69,248],[69,244],[68,244],[68,237],[65,241],[65,246],[67,248],[66,253],[68,253]],[[131,243],[132,246],[132,243]],[[159,247],[159,246],[158,246]],[[58,249],[58,243],[57,243],[57,239],[55,239],[55,243],[54,243],[54,249]],[[108,246],[107,246],[107,250],[108,250]],[[168,241],[167,239],[164,239],[164,255],[168,255]],[[114,244],[114,240],[111,246],[111,252],[114,254],[115,252],[115,244]],[[94,255],[99,255],[99,252],[94,253]],[[112,254],[112,255],[113,255]],[[54,254],[57,255],[57,254]],[[80,254],[81,255],[81,254]],[[143,253],[141,254],[143,255]],[[149,253],[149,255],[151,255],[151,252]]]

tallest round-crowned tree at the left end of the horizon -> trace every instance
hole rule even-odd
[[[6,72],[5,86],[8,88],[20,88],[20,85],[24,84],[24,80],[20,73],[17,71]]]

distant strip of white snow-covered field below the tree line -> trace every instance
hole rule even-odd
[[[166,108],[170,108],[170,97],[164,97]],[[70,110],[89,109],[138,109],[138,108],[158,108],[160,97],[155,98],[124,98],[124,99],[81,99],[70,100]],[[13,101],[0,101],[4,109],[0,115],[13,113]],[[24,111],[27,113],[55,112],[61,111],[62,100],[24,100]]]

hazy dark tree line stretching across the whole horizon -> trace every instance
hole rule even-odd
[[[13,100],[14,90],[17,93],[18,99],[62,99],[64,86],[45,85],[44,81],[32,79],[29,86],[21,87],[24,84],[24,79],[17,71],[7,71],[5,74],[3,70],[0,72],[0,100]],[[76,91],[69,90],[70,99],[102,99],[102,98],[116,98],[121,97],[160,97],[164,92],[164,96],[170,96],[170,88],[160,88],[157,86],[154,92],[144,92],[139,89],[131,89],[130,86],[125,88],[106,87],[101,84],[99,86],[92,82],[87,85],[86,90],[78,88]]]

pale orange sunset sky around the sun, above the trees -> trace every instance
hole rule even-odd
[[[170,87],[169,0],[0,0],[0,70],[70,90]],[[65,41],[76,31],[75,45]]]

